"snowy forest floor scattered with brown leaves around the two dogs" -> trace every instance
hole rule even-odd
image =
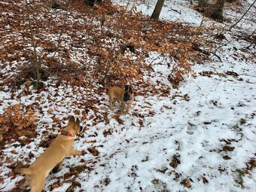
[[[207,50],[209,56],[192,62],[194,77],[186,76],[174,89],[168,80],[169,66],[163,65],[163,58],[157,53],[149,53],[151,70],[142,75],[147,85],[133,81],[136,96],[128,114],[110,111],[108,96],[96,83],[88,88],[59,84],[56,78],[49,78],[44,82],[47,90],[41,92],[33,90],[31,84],[22,84],[19,90],[6,86],[5,79],[15,75],[20,62],[26,62],[20,59],[23,47],[15,48],[19,61],[17,55],[6,53],[5,44],[14,36],[19,39],[19,32],[6,24],[1,29],[5,38],[0,45],[0,114],[10,109],[14,111],[11,115],[26,116],[29,111],[29,118],[36,121],[32,126],[26,120],[34,130],[26,130],[23,136],[16,136],[20,132],[8,135],[2,131],[1,136],[8,138],[0,137],[0,191],[28,188],[24,176],[14,174],[14,167],[17,162],[25,166],[32,163],[59,134],[70,115],[79,117],[84,127],[74,148],[87,154],[66,157],[62,169],[47,177],[45,191],[254,191],[256,54],[255,47],[248,46],[249,35],[256,26],[252,17],[255,5],[231,31],[224,30],[236,23],[253,1],[239,2],[228,4],[224,23],[218,23],[203,17],[188,1],[166,1],[160,20],[178,20],[191,26],[199,26],[204,20],[206,31],[202,37],[209,39],[212,47],[206,43],[201,49]],[[122,4],[126,5],[126,1]],[[11,5],[17,10],[23,7],[20,1],[0,2],[2,8]],[[148,1],[138,5],[136,11],[147,15],[153,8],[154,4]],[[2,17],[8,14],[11,13],[2,12]],[[51,17],[58,14],[57,9],[50,11]],[[73,14],[74,21],[78,21],[79,13]],[[220,32],[222,38],[216,38]],[[41,35],[46,36],[40,34],[37,38]],[[74,48],[71,55],[76,60],[84,59],[77,51]],[[10,62],[7,57],[13,60]],[[90,108],[87,101],[93,102]],[[10,127],[5,129],[12,133]]]

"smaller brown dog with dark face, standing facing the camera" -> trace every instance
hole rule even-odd
[[[108,89],[108,97],[109,97],[109,108],[113,110],[114,102],[119,102],[119,109],[123,112],[125,109],[125,113],[129,111],[130,106],[133,103],[134,96],[133,90],[130,85],[126,85],[123,88],[121,87],[109,87]]]

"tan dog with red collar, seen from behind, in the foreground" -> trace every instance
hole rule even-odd
[[[64,157],[82,154],[82,151],[72,148],[74,143],[73,136],[77,135],[81,130],[82,127],[79,120],[75,121],[75,117],[71,117],[68,126],[62,130],[62,133],[51,142],[49,148],[29,168],[14,169],[14,172],[27,176],[31,192],[41,192],[43,190],[45,178],[51,170],[53,172],[59,171]]]

